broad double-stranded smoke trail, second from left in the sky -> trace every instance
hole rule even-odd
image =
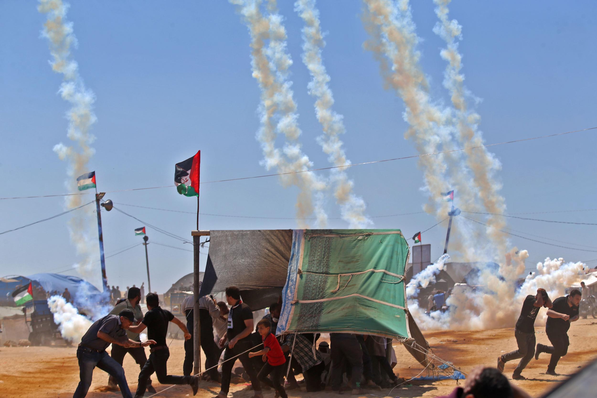
[[[263,151],[263,165],[266,169],[276,167],[278,172],[313,168],[313,163],[302,152],[298,141],[301,130],[298,127],[297,106],[290,89],[291,82],[288,81],[288,68],[292,60],[286,52],[286,30],[282,17],[276,13],[275,1],[267,5],[267,16],[260,11],[261,0],[229,1],[238,6],[251,36],[251,68],[261,89],[261,125],[257,140]],[[267,47],[266,41],[269,41]],[[276,132],[284,134],[286,138],[282,150],[276,147]],[[281,181],[285,187],[295,185],[299,189],[296,204],[299,227],[307,227],[304,218],[314,211],[318,226],[325,227],[327,215],[322,207],[325,182],[313,172],[283,175]],[[313,196],[316,198],[315,205]]]

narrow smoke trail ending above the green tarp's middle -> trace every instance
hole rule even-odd
[[[343,116],[332,109],[334,96],[328,86],[330,76],[322,60],[325,41],[321,32],[319,10],[315,7],[315,0],[298,0],[294,8],[305,24],[302,30],[302,58],[311,75],[307,88],[309,94],[316,98],[315,114],[324,129],[324,134],[318,137],[317,141],[329,155],[328,161],[334,166],[349,165],[350,161],[346,158],[340,140],[340,134],[346,132]],[[372,225],[373,222],[365,215],[365,201],[352,192],[354,183],[349,180],[344,169],[334,169],[332,179],[336,184],[336,202],[340,205],[342,218],[349,223],[349,227],[364,228]]]

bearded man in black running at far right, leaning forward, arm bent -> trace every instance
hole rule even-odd
[[[556,376],[556,365],[561,357],[568,353],[568,329],[570,322],[578,320],[578,304],[582,294],[578,289],[570,292],[566,297],[559,297],[553,301],[553,308],[547,310],[547,323],[545,333],[552,345],[537,344],[535,359],[539,359],[540,353],[552,354],[552,358],[547,365],[546,374]]]

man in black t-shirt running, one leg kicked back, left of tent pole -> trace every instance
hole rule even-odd
[[[146,297],[147,311],[138,326],[131,326],[129,330],[133,333],[141,333],[147,328],[147,338],[154,340],[155,344],[149,345],[149,359],[143,365],[139,374],[136,398],[143,397],[147,386],[147,379],[155,372],[161,384],[189,384],[193,388],[193,395],[199,389],[198,376],[172,376],[168,375],[167,362],[170,357],[170,350],[166,344],[168,334],[168,322],[176,323],[184,332],[184,339],[190,338],[189,331],[180,319],[168,310],[159,307],[159,298],[155,293],[149,293]]]

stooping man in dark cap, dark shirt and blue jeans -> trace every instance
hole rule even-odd
[[[118,315],[106,315],[96,320],[87,330],[76,351],[81,381],[79,381],[73,398],[83,398],[87,395],[93,378],[93,369],[96,366],[116,378],[123,398],[131,398],[131,391],[128,389],[124,369],[122,369],[122,365],[119,365],[106,353],[106,348],[110,344],[122,345],[123,347],[145,347],[149,344],[155,344],[153,340],[139,343],[127,337],[126,330],[134,320],[133,311],[125,309],[120,311]]]

